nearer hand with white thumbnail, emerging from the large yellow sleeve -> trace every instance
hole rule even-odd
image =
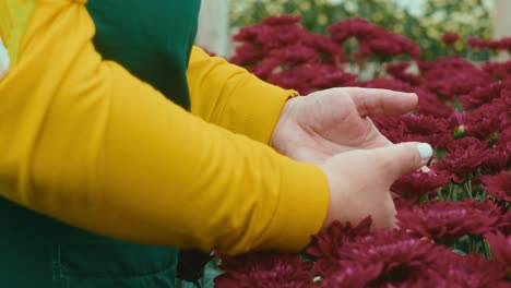
[[[330,185],[323,230],[333,220],[357,225],[368,215],[373,227],[394,227],[395,207],[390,187],[402,175],[420,168],[431,155],[429,144],[411,142],[350,151],[329,158],[320,166]]]

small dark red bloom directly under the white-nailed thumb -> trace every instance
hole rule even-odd
[[[420,197],[428,193],[436,194],[436,190],[445,185],[450,179],[450,175],[443,172],[416,171],[401,177],[392,184],[391,191],[406,199]]]

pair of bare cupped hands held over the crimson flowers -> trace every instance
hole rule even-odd
[[[371,215],[376,227],[394,226],[390,187],[419,169],[432,149],[418,143],[392,145],[369,116],[399,116],[417,105],[415,94],[388,89],[332,88],[289,99],[271,145],[301,161],[320,165],[330,184],[324,228],[340,219],[356,224]]]

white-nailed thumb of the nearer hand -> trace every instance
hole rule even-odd
[[[432,148],[427,143],[407,142],[368,151],[378,175],[383,182],[392,184],[405,173],[425,166],[432,156]]]

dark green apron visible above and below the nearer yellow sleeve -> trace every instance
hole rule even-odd
[[[200,0],[87,3],[104,58],[187,109],[186,69],[199,8]],[[0,287],[174,287],[177,257],[176,249],[100,237],[0,197]]]

